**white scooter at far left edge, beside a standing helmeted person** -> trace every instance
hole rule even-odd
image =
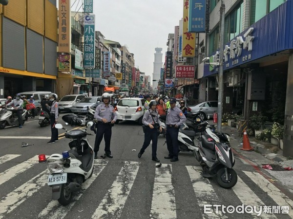
[[[18,107],[19,105],[15,106]],[[10,107],[10,108],[3,108],[1,110],[1,116],[0,116],[0,129],[5,128],[6,126],[19,126],[20,124],[18,124],[18,117],[17,117],[17,113],[16,110],[14,110],[14,107]],[[25,122],[25,114],[26,114],[26,110],[22,110],[22,124],[24,124]]]

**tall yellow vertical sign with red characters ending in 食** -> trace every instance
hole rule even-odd
[[[195,33],[188,32],[189,0],[183,0],[182,57],[195,56]]]

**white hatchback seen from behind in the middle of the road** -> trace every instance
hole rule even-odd
[[[126,97],[121,99],[117,106],[115,107],[117,113],[117,121],[138,121],[140,125],[142,125],[143,115],[145,111],[145,104],[146,100],[137,97]]]

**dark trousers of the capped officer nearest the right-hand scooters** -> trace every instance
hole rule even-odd
[[[179,128],[169,127],[167,125],[166,130],[166,142],[169,156],[172,158],[178,158],[179,146],[178,146],[178,132]]]

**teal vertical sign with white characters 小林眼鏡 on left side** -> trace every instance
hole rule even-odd
[[[95,68],[95,15],[84,17],[84,68]]]

